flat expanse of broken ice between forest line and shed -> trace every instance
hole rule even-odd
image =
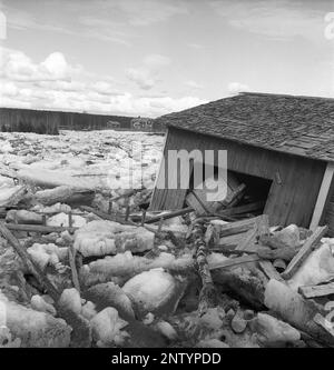
[[[130,131],[0,133],[0,171],[45,187],[111,190],[154,184],[164,137]],[[10,181],[0,178],[0,187]],[[117,193],[118,191],[116,191]]]

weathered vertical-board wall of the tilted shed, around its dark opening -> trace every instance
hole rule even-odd
[[[326,162],[175,128],[168,130],[164,154],[170,149],[227,150],[228,170],[273,181],[264,210],[271,224],[310,226]],[[150,209],[181,208],[185,196],[185,190],[155,189]]]

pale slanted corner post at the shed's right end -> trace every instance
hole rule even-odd
[[[314,211],[313,211],[313,216],[312,216],[312,220],[311,220],[311,224],[310,224],[310,229],[312,231],[314,231],[317,226],[321,222],[324,209],[325,209],[325,204],[330,194],[330,188],[331,188],[331,183],[333,181],[333,174],[334,174],[334,163],[328,162],[324,177],[323,177],[323,181],[321,184],[321,189],[317,196],[317,200],[314,207]]]

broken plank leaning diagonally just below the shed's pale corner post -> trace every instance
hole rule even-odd
[[[305,241],[304,246],[301,248],[298,253],[288,263],[286,270],[282,273],[282,278],[285,280],[291,279],[298,268],[303,264],[305,259],[311,254],[311,252],[317,247],[321,239],[327,232],[328,227],[318,227],[313,234]]]

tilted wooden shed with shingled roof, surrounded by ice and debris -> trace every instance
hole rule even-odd
[[[271,224],[327,223],[334,233],[334,99],[245,92],[156,121],[168,129],[165,158],[227,150],[228,171],[265,197]],[[180,209],[187,192],[156,188],[150,209]]]

